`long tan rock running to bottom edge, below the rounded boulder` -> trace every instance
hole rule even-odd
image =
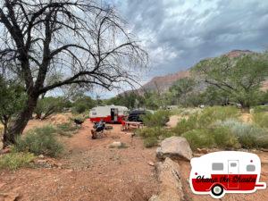
[[[157,179],[160,182],[158,196],[153,196],[149,201],[183,201],[184,193],[180,181],[180,166],[170,158],[155,164]]]

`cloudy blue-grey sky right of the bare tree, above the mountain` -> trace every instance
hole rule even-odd
[[[268,49],[268,0],[103,0],[115,5],[151,60],[142,81],[233,49]]]

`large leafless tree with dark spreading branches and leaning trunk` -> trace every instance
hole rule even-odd
[[[125,22],[97,0],[2,0],[0,6],[1,73],[20,78],[28,96],[8,131],[11,143],[48,90],[71,84],[112,89],[135,81],[137,68],[147,64]],[[46,81],[53,74],[61,79]]]

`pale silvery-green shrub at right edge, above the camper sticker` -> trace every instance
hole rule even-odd
[[[236,120],[226,120],[216,123],[217,126],[229,128],[230,132],[239,139],[244,148],[268,147],[268,133],[254,124]]]

